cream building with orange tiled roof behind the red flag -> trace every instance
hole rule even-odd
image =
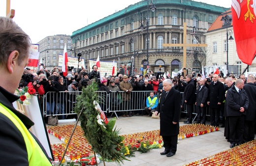
[[[239,59],[236,52],[231,10],[221,13],[205,33],[205,36],[208,44],[205,66],[216,65],[226,74],[228,62],[228,73],[239,76],[245,71],[247,64]],[[232,38],[233,40],[230,40]],[[256,60],[250,66],[250,72],[256,71],[255,62]]]

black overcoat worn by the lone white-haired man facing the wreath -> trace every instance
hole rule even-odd
[[[157,111],[160,112],[160,136],[176,136],[179,134],[179,118],[181,113],[181,94],[173,87],[165,96],[162,92]],[[165,98],[164,98],[165,96]],[[177,122],[177,124],[172,124]]]

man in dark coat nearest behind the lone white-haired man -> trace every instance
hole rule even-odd
[[[192,112],[194,108],[195,103],[195,86],[192,82],[192,76],[187,75],[186,76],[187,86],[185,87],[184,94],[183,94],[183,100],[184,104],[187,105],[187,111],[188,111],[188,120],[185,121],[185,124],[191,124],[192,123]]]

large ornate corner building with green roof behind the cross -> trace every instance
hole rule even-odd
[[[150,10],[152,2],[157,7],[155,12]],[[192,0],[142,0],[74,31],[71,38],[85,62],[96,59],[97,55],[102,61],[115,59],[119,64],[134,57],[132,72],[135,74],[142,73],[141,65],[146,69],[147,63],[155,73],[160,66],[161,72],[177,72],[185,67],[182,47],[163,47],[162,44],[182,44],[184,35],[187,43],[205,43],[204,33],[222,9]],[[146,29],[139,29],[141,25],[147,28],[147,21],[148,34]],[[183,33],[185,22],[187,34]],[[206,63],[204,48],[187,47],[186,55],[186,67],[191,70],[199,71]]]

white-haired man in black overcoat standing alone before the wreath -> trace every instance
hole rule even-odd
[[[165,148],[160,154],[171,157],[177,151],[181,94],[172,88],[172,81],[169,79],[164,80],[162,85],[164,91],[162,92],[160,104],[155,115],[160,113],[160,136],[162,136],[163,147]]]

